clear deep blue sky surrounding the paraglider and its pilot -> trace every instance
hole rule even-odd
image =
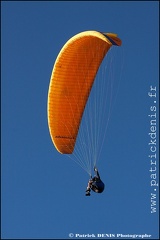
[[[158,2],[2,1],[1,6],[2,238],[146,233],[157,239],[148,92],[152,85],[158,93]],[[106,189],[91,197],[84,195],[88,175],[56,151],[47,123],[54,61],[65,42],[85,30],[117,33],[124,61],[100,161]]]

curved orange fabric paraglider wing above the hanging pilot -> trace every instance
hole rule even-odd
[[[94,78],[112,45],[121,45],[116,34],[82,32],[63,46],[55,61],[48,92],[48,124],[60,153],[74,150]]]

